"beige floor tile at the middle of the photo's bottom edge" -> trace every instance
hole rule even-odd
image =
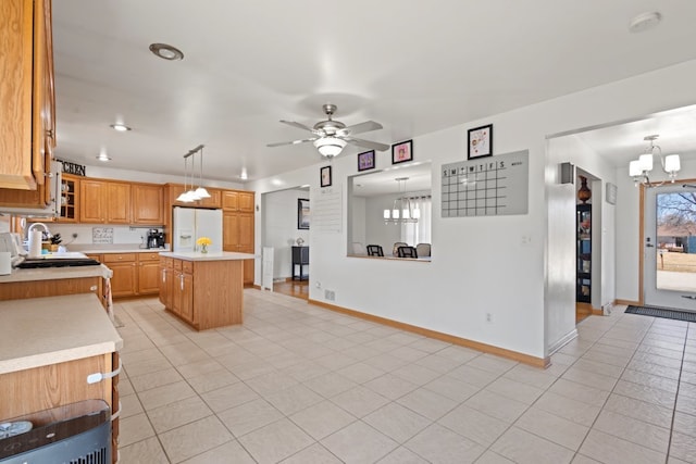
[[[386,456],[398,443],[363,422],[355,422],[321,443],[345,463],[370,463]]]

